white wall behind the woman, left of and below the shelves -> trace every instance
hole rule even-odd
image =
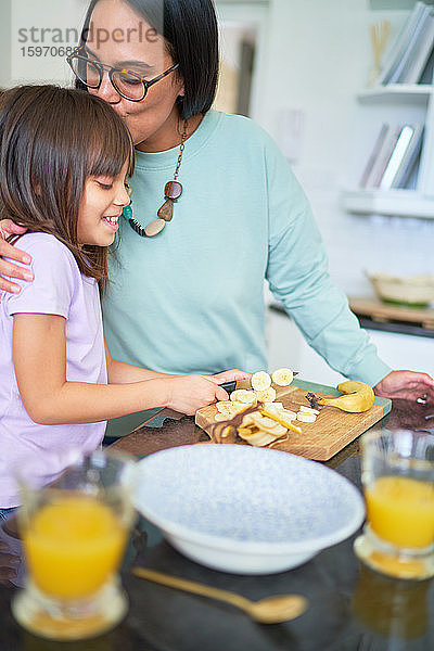
[[[269,3],[253,116],[279,143],[281,111],[303,112],[299,159],[293,168],[322,232],[333,280],[353,295],[371,293],[365,269],[434,273],[434,219],[350,216],[339,205],[339,190],[356,155],[355,98],[366,87],[371,67],[369,26],[387,18],[394,36],[407,15],[372,12],[368,0]]]

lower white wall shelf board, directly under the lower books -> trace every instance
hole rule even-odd
[[[434,219],[434,199],[414,190],[344,190],[342,206],[359,215],[393,215]]]

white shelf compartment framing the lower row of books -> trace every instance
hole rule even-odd
[[[360,215],[391,215],[434,219],[434,85],[379,86],[357,97],[357,133],[342,206]],[[414,190],[358,187],[381,125],[385,122],[425,125]]]

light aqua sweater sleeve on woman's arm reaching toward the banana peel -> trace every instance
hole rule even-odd
[[[343,375],[375,385],[391,368],[333,284],[309,203],[273,142],[266,148],[269,205],[267,280],[307,343]]]

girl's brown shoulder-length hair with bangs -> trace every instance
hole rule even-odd
[[[131,137],[103,100],[58,86],[20,86],[0,95],[0,219],[55,235],[102,291],[107,250],[80,247],[80,201],[88,177],[115,177],[126,161],[132,174]]]

